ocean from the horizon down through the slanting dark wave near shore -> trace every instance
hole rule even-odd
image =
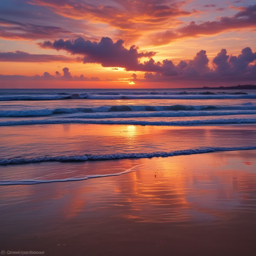
[[[256,149],[254,124],[255,90],[1,90],[0,165]]]

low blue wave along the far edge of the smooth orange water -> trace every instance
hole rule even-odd
[[[255,124],[256,118],[227,118],[208,120],[185,121],[143,121],[143,120],[108,120],[108,119],[38,119],[2,121],[0,126],[16,125],[44,125],[44,124],[116,124],[116,125],[157,125],[157,126],[201,126],[201,125],[227,125],[227,124]]]

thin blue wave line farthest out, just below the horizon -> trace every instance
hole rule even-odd
[[[97,100],[120,100],[120,99],[256,99],[256,94],[237,93],[58,93],[53,95],[1,95],[0,101],[40,101],[40,100],[69,100],[69,99],[97,99]]]

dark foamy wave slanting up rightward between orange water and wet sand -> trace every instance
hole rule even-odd
[[[120,154],[105,154],[105,155],[76,155],[76,156],[45,156],[35,158],[10,158],[1,159],[0,165],[20,165],[34,164],[44,162],[87,162],[87,161],[106,161],[120,159],[141,159],[152,157],[172,157],[181,155],[195,155],[212,152],[237,151],[237,150],[254,150],[256,146],[248,147],[205,147],[196,149],[177,150],[170,152],[152,152],[152,153],[120,153]]]

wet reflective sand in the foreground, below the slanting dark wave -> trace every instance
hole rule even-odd
[[[0,251],[256,255],[255,150],[2,166],[0,179],[82,177],[136,165],[116,177],[1,186]]]

